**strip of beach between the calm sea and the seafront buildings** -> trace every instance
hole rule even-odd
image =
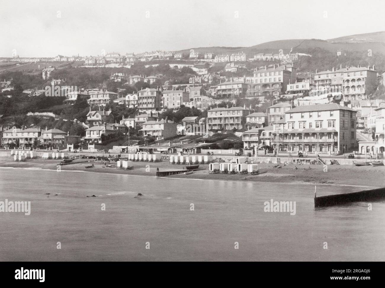
[[[140,176],[156,176],[159,171],[181,170],[184,165],[172,165],[168,161],[163,162],[131,162],[135,169],[125,171],[123,169],[102,167],[104,162],[90,159],[77,159],[76,161],[87,161],[77,164],[61,166],[62,171],[87,171],[112,174],[128,174]],[[0,167],[40,168],[57,169],[60,160],[28,159],[25,162],[13,162],[11,157],[0,157]],[[94,164],[95,167],[86,169],[85,166]],[[115,162],[111,162],[113,164]],[[258,164],[260,174],[257,176],[209,174],[208,164],[202,164],[199,168],[204,170],[195,171],[193,174],[177,174],[173,178],[189,179],[211,179],[229,181],[255,181],[255,182],[277,182],[277,183],[314,183],[314,184],[340,184],[340,185],[362,185],[383,187],[385,186],[385,166],[354,166],[354,165],[328,165],[324,172],[323,165],[296,165],[288,164],[281,168],[274,168],[276,164]],[[295,169],[297,167],[297,169]]]

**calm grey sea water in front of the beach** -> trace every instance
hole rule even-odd
[[[0,213],[0,261],[385,260],[385,201],[315,209],[313,197],[311,184],[0,168],[0,201],[31,201],[29,216]],[[296,214],[264,212],[270,199]]]

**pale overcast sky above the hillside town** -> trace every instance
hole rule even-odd
[[[0,57],[326,40],[383,31],[384,12],[384,0],[1,0]]]

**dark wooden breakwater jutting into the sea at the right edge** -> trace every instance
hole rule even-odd
[[[372,201],[378,199],[385,199],[385,188],[315,197],[314,207],[325,207],[350,202]]]

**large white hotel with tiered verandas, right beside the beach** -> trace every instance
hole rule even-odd
[[[271,142],[279,151],[352,151],[357,147],[356,113],[336,103],[295,107],[285,112],[285,119],[273,123]]]

